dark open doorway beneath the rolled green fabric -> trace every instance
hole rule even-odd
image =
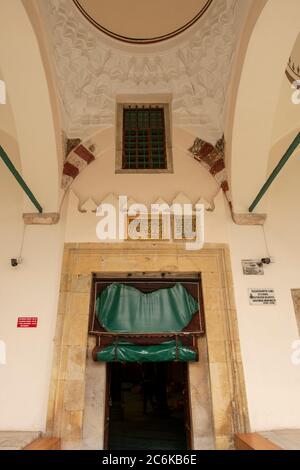
[[[185,362],[107,364],[106,449],[190,449]]]

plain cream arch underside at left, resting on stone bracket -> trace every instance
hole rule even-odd
[[[0,0],[0,9],[0,67],[21,147],[22,174],[44,210],[55,212],[58,148],[39,44],[20,0]],[[25,199],[24,204],[27,212],[32,211],[30,201]]]

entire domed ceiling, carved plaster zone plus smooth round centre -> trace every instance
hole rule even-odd
[[[150,42],[166,39],[203,13],[173,39],[132,44],[101,32],[74,1],[40,0],[66,134],[83,138],[100,127],[113,127],[120,95],[163,94],[172,101],[173,126],[216,142],[224,131],[231,66],[251,2],[77,1],[102,27]]]

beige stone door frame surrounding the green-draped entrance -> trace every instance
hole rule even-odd
[[[80,448],[83,441],[90,291],[92,273],[99,272],[201,274],[214,443],[216,449],[232,448],[234,434],[249,431],[249,418],[230,253],[225,244],[206,244],[200,251],[186,251],[184,244],[169,242],[65,244],[47,434],[61,437],[65,448]],[[199,364],[189,365],[195,449],[201,447],[201,433],[197,431]],[[102,365],[102,377],[104,370]]]

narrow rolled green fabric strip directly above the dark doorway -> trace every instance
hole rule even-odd
[[[97,351],[95,359],[102,362],[171,362],[176,360],[194,362],[197,360],[197,354],[180,343],[178,343],[176,351],[175,341],[151,346],[120,341]]]

